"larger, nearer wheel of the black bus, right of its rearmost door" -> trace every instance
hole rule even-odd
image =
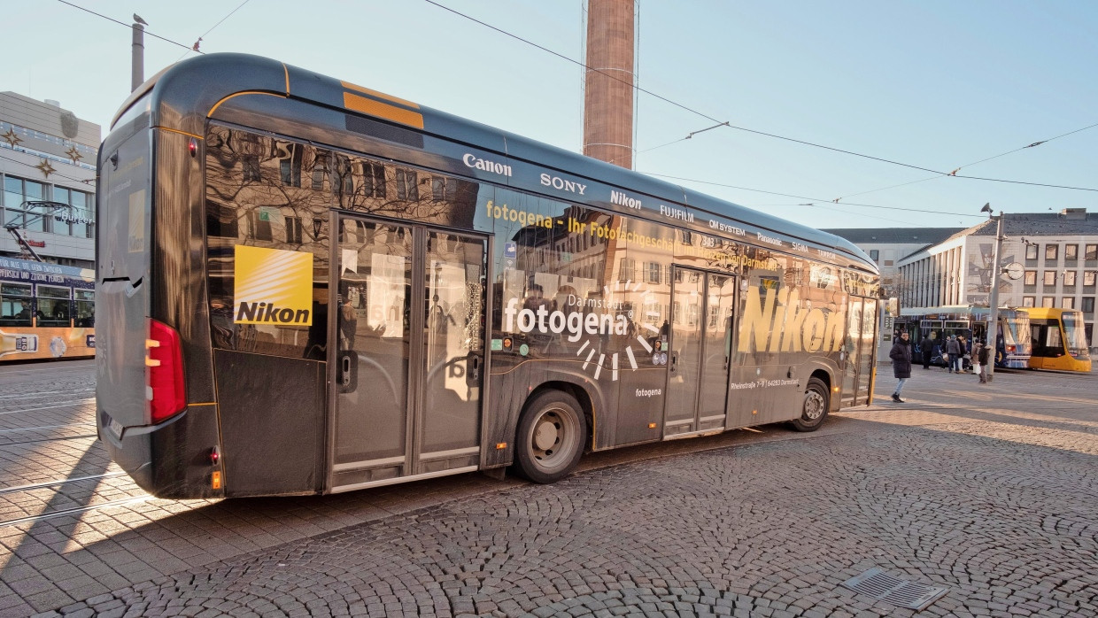
[[[535,483],[554,483],[583,456],[587,419],[572,395],[546,391],[523,408],[515,435],[517,472]]]

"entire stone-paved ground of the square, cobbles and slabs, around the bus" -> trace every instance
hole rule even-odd
[[[815,434],[595,453],[554,485],[470,474],[0,526],[0,616],[1098,616],[1095,385],[917,370],[906,404]],[[915,611],[840,585],[871,568],[948,592]]]

